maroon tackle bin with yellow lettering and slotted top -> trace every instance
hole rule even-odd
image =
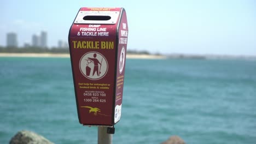
[[[124,8],[78,11],[69,30],[68,43],[81,124],[112,127],[119,122],[127,37]]]

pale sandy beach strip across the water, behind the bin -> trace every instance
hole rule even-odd
[[[69,54],[63,53],[0,53],[0,57],[70,57]],[[166,56],[159,55],[137,55],[127,54],[126,58],[132,59],[166,59]]]

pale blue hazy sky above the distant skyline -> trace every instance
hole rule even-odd
[[[80,7],[123,7],[129,27],[128,50],[151,53],[256,56],[256,1],[0,1],[0,46],[6,34],[31,44],[32,34],[48,32],[48,46],[67,41]]]

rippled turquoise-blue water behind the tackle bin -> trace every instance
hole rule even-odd
[[[256,61],[127,59],[113,143],[256,143]],[[97,143],[78,122],[69,58],[0,57],[0,143],[31,130]]]

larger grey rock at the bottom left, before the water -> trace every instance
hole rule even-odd
[[[11,138],[9,144],[53,144],[53,142],[32,131],[22,130]]]

